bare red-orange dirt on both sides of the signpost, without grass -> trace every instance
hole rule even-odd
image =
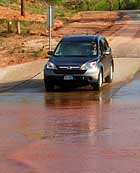
[[[46,21],[46,16],[26,14],[26,17],[21,17],[19,12],[5,7],[0,7],[0,14],[0,19]],[[58,41],[67,34],[103,33],[118,18],[117,12],[80,12],[69,19],[68,24],[65,26],[63,21],[55,21],[53,38]],[[42,32],[45,34],[42,34]],[[30,36],[0,36],[0,67],[45,58],[48,50],[46,33],[46,31],[38,30],[34,31],[36,35]],[[56,42],[53,43],[54,47],[55,45]]]

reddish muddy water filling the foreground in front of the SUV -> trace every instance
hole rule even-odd
[[[139,104],[67,99],[1,105],[0,172],[140,172]]]

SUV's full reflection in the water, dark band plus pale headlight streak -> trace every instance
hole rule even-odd
[[[51,135],[54,137],[74,137],[95,135],[105,129],[102,114],[102,92],[73,91],[46,93],[45,106],[49,117]],[[46,124],[46,127],[48,125]],[[46,129],[46,138],[50,129]]]

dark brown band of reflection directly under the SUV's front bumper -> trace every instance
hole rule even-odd
[[[97,101],[98,103],[110,102],[112,96],[112,87],[104,86],[100,91],[89,89],[75,89],[67,91],[58,91],[45,94],[45,105],[72,104],[73,102]]]

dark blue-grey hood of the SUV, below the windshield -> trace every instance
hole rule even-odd
[[[56,65],[82,65],[88,61],[96,61],[98,57],[52,57],[49,61]]]

